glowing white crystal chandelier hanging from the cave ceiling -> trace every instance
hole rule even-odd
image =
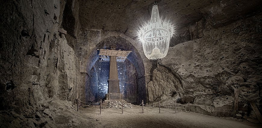
[[[154,3],[150,23],[139,31],[139,39],[142,42],[145,56],[151,60],[165,57],[173,32],[174,29],[170,23],[160,20],[158,5]]]

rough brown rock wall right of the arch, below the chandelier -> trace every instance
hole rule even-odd
[[[170,47],[147,84],[149,101],[175,91],[180,97],[177,102],[204,105],[197,112],[232,116],[234,90],[238,89],[243,115],[248,114],[249,100],[260,108],[262,37],[257,27],[261,19],[257,15],[221,28],[207,23],[203,38]]]

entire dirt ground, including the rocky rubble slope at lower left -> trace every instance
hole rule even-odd
[[[64,100],[54,100],[43,112],[37,112],[40,119],[33,116],[24,117],[22,115],[0,112],[0,128],[4,127],[43,127],[43,128],[136,128],[136,127],[204,127],[204,128],[247,128],[262,127],[262,124],[254,124],[248,121],[235,121],[234,118],[219,118],[202,115],[194,112],[175,111],[173,109],[133,106],[131,109],[108,108],[102,109],[100,106],[80,107],[76,111],[76,105]],[[12,116],[11,116],[12,115]]]

